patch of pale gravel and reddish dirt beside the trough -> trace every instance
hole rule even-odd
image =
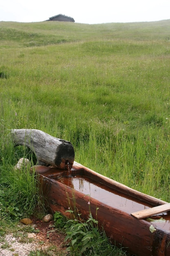
[[[66,244],[64,242],[65,234],[57,230],[54,221],[44,222],[34,219],[29,226],[34,227],[33,232],[19,231],[7,234],[0,240],[1,256],[27,256],[29,253],[37,250],[49,252],[46,255],[65,256]],[[22,223],[19,229],[28,227]]]

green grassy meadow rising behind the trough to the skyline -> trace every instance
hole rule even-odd
[[[76,162],[170,202],[169,29],[0,22],[1,184],[20,156],[9,130],[33,128],[71,141]]]

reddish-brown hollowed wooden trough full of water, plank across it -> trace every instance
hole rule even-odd
[[[90,207],[113,244],[137,256],[170,256],[169,203],[77,162],[71,167],[35,166],[51,212],[60,211],[69,217],[68,207],[76,207],[86,219]]]

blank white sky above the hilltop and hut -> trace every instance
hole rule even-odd
[[[1,0],[0,21],[39,22],[57,14],[77,23],[170,19],[170,0]]]

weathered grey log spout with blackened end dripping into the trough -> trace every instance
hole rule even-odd
[[[12,138],[17,145],[29,147],[39,162],[45,162],[61,169],[71,169],[75,153],[69,141],[55,138],[46,132],[35,129],[11,130]]]

